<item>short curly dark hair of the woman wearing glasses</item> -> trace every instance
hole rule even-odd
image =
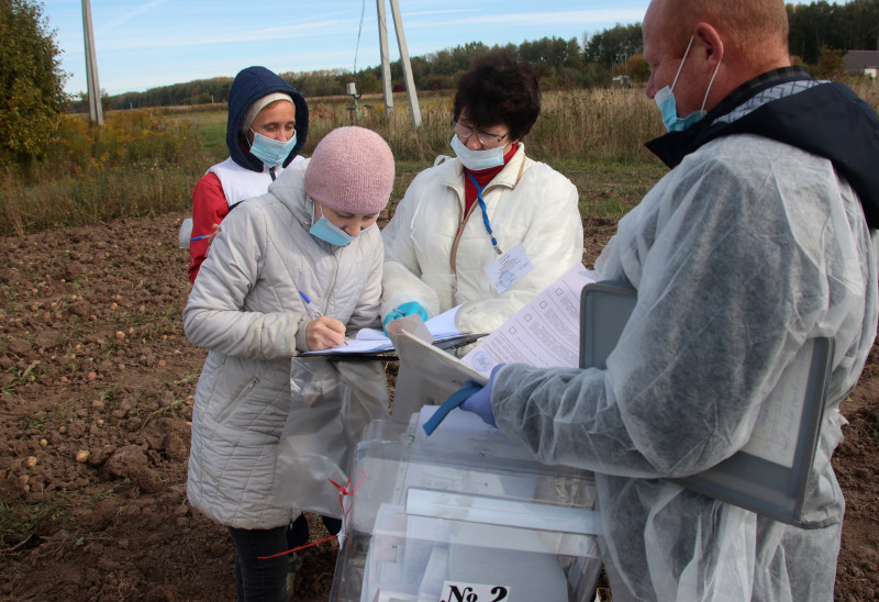
[[[504,124],[509,140],[521,140],[541,114],[541,86],[536,74],[509,54],[487,53],[464,74],[455,93],[455,121],[461,110],[477,130]]]

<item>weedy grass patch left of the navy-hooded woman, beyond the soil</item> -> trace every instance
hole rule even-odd
[[[67,115],[40,177],[0,172],[0,235],[186,209],[205,165],[201,132],[158,111],[114,111],[100,129]]]

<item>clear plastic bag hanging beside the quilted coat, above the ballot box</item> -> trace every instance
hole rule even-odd
[[[340,487],[364,427],[389,420],[381,361],[293,358],[292,400],[278,442],[274,502],[341,519]],[[356,486],[349,483],[348,489]]]

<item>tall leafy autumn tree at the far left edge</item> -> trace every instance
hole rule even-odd
[[[67,76],[42,4],[0,0],[0,167],[26,167],[55,140]]]

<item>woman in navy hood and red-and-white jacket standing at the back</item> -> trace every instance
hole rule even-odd
[[[247,67],[229,92],[229,158],[208,169],[192,191],[189,280],[196,281],[220,222],[241,201],[265,194],[309,133],[305,99],[265,67]]]

